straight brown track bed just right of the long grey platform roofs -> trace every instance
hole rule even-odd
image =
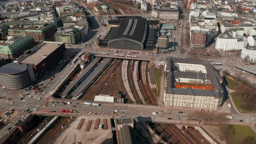
[[[95,85],[92,85],[89,90],[85,93],[85,95],[82,97],[84,100],[92,101],[95,95],[98,95],[98,92],[102,89],[102,87],[105,85],[105,82],[108,81],[108,79],[114,77],[114,72],[121,64],[122,60],[118,59],[112,62],[112,64],[108,67],[108,69],[105,70],[105,72],[102,73],[102,76],[98,78]]]

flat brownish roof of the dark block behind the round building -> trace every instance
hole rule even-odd
[[[41,43],[42,44],[42,43]],[[33,64],[38,65],[39,62],[43,61],[49,54],[54,52],[57,48],[59,48],[59,45],[62,45],[63,42],[43,42],[43,46],[40,44],[37,46],[41,46],[36,52],[30,54],[25,59],[23,59],[22,63],[27,64]]]

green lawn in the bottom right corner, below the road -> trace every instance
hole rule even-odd
[[[252,136],[256,139],[255,132],[248,125],[233,125],[236,134],[231,138],[231,144],[240,144],[246,136]]]

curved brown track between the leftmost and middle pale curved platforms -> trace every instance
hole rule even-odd
[[[132,65],[132,61],[129,60],[128,62],[128,70],[127,70],[127,76],[128,76],[128,82],[131,88],[131,93],[135,98],[135,101],[137,101],[138,104],[143,104],[141,99],[139,98],[139,95],[137,93],[137,90],[135,88],[135,84],[133,81],[133,76],[132,76],[132,72],[131,72],[131,65]]]

